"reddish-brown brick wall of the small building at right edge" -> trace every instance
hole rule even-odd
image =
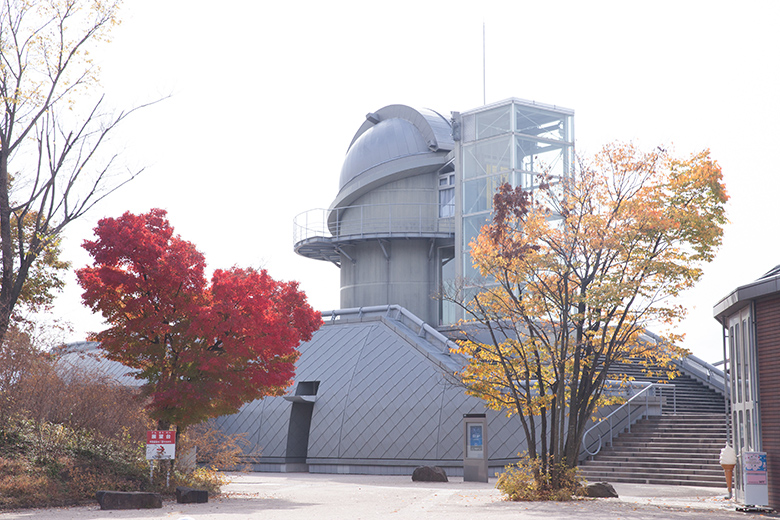
[[[767,454],[769,505],[780,509],[780,296],[756,302],[761,440]]]

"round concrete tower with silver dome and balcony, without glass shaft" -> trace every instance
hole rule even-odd
[[[341,307],[397,304],[438,325],[440,266],[452,258],[450,122],[390,105],[366,116],[336,199],[295,221],[295,251],[341,268]]]

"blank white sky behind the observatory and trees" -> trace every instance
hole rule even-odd
[[[128,0],[98,54],[119,108],[172,94],[110,146],[140,178],[68,230],[160,207],[209,268],[264,267],[339,306],[332,264],[297,256],[295,215],[327,207],[365,114],[400,103],[448,115],[508,97],[575,110],[576,145],[711,148],[731,195],[723,247],[688,293],[685,346],[721,358],[712,307],[780,264],[780,2],[205,2]],[[72,340],[101,328],[72,278],[55,314]]]

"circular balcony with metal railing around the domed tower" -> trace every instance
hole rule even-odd
[[[314,238],[338,241],[392,236],[446,237],[454,233],[454,218],[439,218],[438,204],[318,208],[299,214],[293,221],[294,244]]]

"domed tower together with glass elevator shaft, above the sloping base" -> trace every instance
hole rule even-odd
[[[295,220],[295,251],[341,273],[341,308],[400,305],[435,326],[457,321],[433,298],[471,278],[469,243],[504,182],[570,174],[574,112],[508,99],[462,114],[391,105],[366,115],[327,209]]]

